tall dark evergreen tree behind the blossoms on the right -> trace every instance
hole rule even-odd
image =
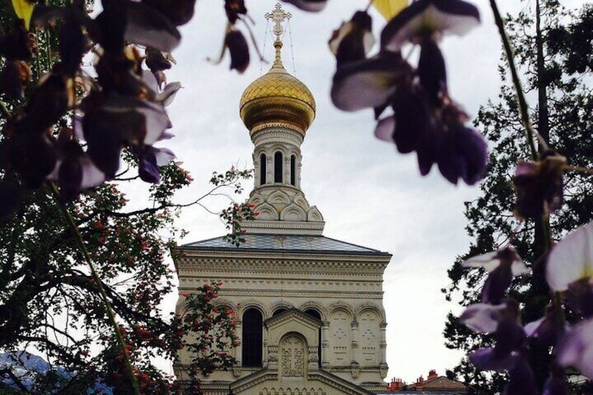
[[[515,59],[522,64],[521,71],[526,81],[527,92],[543,92],[536,108],[531,108],[531,117],[536,119],[539,131],[548,131],[546,139],[556,152],[561,152],[574,166],[592,166],[593,146],[590,130],[593,118],[590,109],[593,96],[585,81],[592,69],[576,72],[574,59],[590,59],[591,47],[575,45],[573,41],[583,37],[576,33],[590,23],[590,6],[580,13],[567,13],[557,1],[542,1],[541,41],[543,64],[538,64],[537,31],[534,11],[524,10],[515,17],[506,18],[506,29],[515,48]],[[574,34],[571,34],[575,32]],[[585,50],[583,53],[582,51]],[[501,78],[506,78],[506,69],[501,66]],[[541,109],[545,106],[545,113]],[[476,126],[483,129],[494,148],[490,155],[485,180],[480,185],[483,192],[476,201],[466,203],[467,231],[473,238],[469,251],[459,257],[448,271],[452,280],[443,289],[447,298],[459,299],[462,306],[480,301],[480,287],[487,278],[483,268],[467,270],[462,262],[470,257],[498,250],[503,245],[513,245],[518,254],[531,264],[534,274],[515,278],[508,289],[511,296],[524,306],[522,322],[533,322],[545,313],[550,303],[548,286],[542,281],[545,267],[545,247],[542,245],[537,218],[522,221],[510,212],[515,206],[515,189],[510,182],[517,162],[529,160],[529,150],[524,141],[524,127],[517,118],[517,101],[513,88],[504,85],[499,101],[490,101],[480,108]],[[564,206],[550,215],[550,231],[555,239],[593,220],[593,187],[590,175],[569,171],[564,175]],[[570,313],[569,313],[570,315]],[[474,352],[480,347],[492,345],[492,335],[483,335],[469,330],[455,315],[449,315],[445,328],[446,345],[450,348]],[[549,375],[550,354],[547,347],[529,344],[530,360],[536,373],[539,387]],[[486,374],[464,360],[454,369],[464,381],[471,384],[477,393],[490,394],[493,389],[502,392],[506,375]]]

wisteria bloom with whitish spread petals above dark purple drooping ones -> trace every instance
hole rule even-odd
[[[471,257],[464,261],[462,266],[481,267],[490,273],[482,288],[483,303],[499,303],[513,277],[529,273],[529,268],[511,247]]]

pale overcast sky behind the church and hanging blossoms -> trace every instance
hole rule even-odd
[[[264,14],[273,10],[276,1],[245,3],[256,22],[252,31],[257,45],[270,61],[272,38],[266,35]],[[443,345],[445,315],[457,306],[445,302],[440,289],[448,283],[446,271],[452,261],[468,248],[463,203],[474,199],[478,188],[455,187],[436,168],[422,178],[415,154],[400,155],[394,146],[373,137],[371,110],[343,113],[331,105],[335,62],[327,39],[332,29],[366,3],[333,0],[319,14],[283,4],[292,13],[290,31],[283,38],[283,61],[317,101],[317,116],[302,146],[302,189],[324,215],[324,236],[393,254],[384,282],[387,378],[410,382],[419,375],[426,377],[433,368],[444,374],[461,357]],[[450,94],[472,117],[480,104],[496,98],[501,53],[488,1],[475,3],[482,13],[481,26],[462,38],[446,37],[442,43]],[[510,2],[501,3],[504,9]],[[373,30],[378,36],[384,22],[375,16]],[[166,144],[195,180],[180,194],[180,202],[206,191],[213,171],[231,165],[252,168],[252,143],[238,116],[238,102],[243,89],[266,73],[270,64],[261,64],[253,51],[243,75],[229,71],[229,57],[217,66],[206,62],[220,53],[225,23],[222,1],[197,1],[194,19],[183,27],[183,41],[173,52],[178,64],[167,74],[169,81],[182,82],[184,89],[169,107],[176,138]],[[248,182],[246,191],[251,188]],[[215,199],[208,203],[214,210],[226,204]],[[185,210],[178,225],[190,231],[181,243],[224,234],[217,217],[200,208]]]

